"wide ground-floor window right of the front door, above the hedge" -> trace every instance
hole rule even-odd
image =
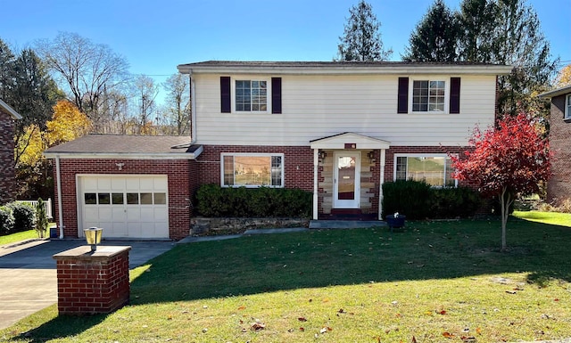
[[[395,154],[394,180],[426,181],[433,187],[455,187],[451,158],[447,155]]]

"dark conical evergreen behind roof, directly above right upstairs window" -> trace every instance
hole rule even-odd
[[[403,61],[456,61],[459,26],[444,4],[435,0],[417,28],[410,34],[410,46]]]

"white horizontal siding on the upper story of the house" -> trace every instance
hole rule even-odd
[[[422,115],[397,113],[398,76],[276,76],[282,78],[282,114],[244,116],[220,112],[219,75],[194,75],[196,143],[307,146],[311,140],[353,132],[392,146],[467,145],[476,123],[493,124],[493,76],[442,76],[462,79],[461,112]],[[415,75],[421,78],[434,76]]]

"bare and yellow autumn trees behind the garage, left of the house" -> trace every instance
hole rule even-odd
[[[166,91],[164,105],[156,102]],[[87,133],[189,135],[189,80],[162,84],[128,73],[128,61],[108,45],[61,32],[14,52],[0,39],[0,99],[21,114],[14,123],[19,198],[53,193],[46,148]]]

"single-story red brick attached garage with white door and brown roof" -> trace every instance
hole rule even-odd
[[[48,149],[60,238],[89,227],[113,238],[180,240],[203,147],[184,136],[86,135]]]

